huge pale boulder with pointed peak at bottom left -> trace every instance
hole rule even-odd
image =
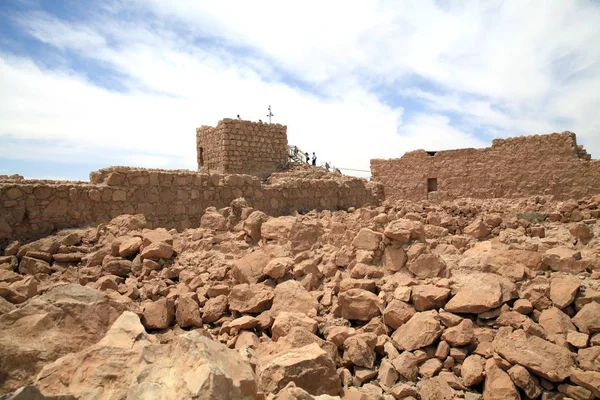
[[[45,366],[35,386],[77,398],[254,399],[254,373],[236,351],[199,331],[153,342],[125,312],[97,344]]]

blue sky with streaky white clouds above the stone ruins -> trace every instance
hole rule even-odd
[[[341,168],[564,130],[600,158],[599,43],[591,0],[4,0],[0,174],[195,169],[196,127],[269,104]]]

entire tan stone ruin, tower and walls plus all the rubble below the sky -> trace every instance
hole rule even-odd
[[[1,399],[600,397],[598,163],[574,134],[367,182],[280,171],[265,125],[200,128],[198,172],[0,177]]]

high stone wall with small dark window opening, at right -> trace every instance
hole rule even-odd
[[[371,173],[392,201],[600,193],[600,160],[591,160],[572,132],[496,139],[484,149],[412,151],[371,160]]]

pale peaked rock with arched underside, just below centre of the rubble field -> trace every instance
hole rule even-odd
[[[302,284],[295,280],[285,281],[274,290],[273,306],[269,313],[272,317],[282,311],[298,312],[309,317],[317,315],[319,302]]]

